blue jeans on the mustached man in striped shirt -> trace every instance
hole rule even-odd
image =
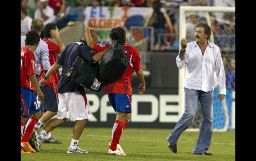
[[[201,118],[199,136],[195,143],[193,154],[206,152],[211,143],[212,121],[213,121],[213,90],[204,92],[184,88],[185,91],[185,113],[177,122],[174,130],[170,133],[168,141],[177,144],[181,133],[186,130],[193,121],[198,110],[198,100],[201,106]]]

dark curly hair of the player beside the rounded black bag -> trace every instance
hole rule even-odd
[[[116,27],[109,32],[110,41],[117,41],[117,43],[124,44],[126,38],[126,32],[121,27]]]

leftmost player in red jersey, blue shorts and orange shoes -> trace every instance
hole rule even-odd
[[[35,152],[35,149],[31,147],[28,140],[35,124],[38,122],[35,115],[39,118],[42,115],[34,91],[36,90],[39,101],[44,100],[44,94],[35,75],[36,59],[33,53],[38,47],[39,41],[40,36],[35,31],[30,31],[26,34],[25,46],[21,48],[21,146],[32,152]],[[27,122],[25,132],[22,135],[29,114],[33,114],[33,116]],[[24,150],[21,149],[21,152],[24,152]]]

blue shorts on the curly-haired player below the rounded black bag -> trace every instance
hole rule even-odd
[[[109,93],[108,100],[115,112],[132,113],[132,96],[119,93]]]

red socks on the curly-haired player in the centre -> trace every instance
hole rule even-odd
[[[126,121],[127,122],[127,121]],[[110,149],[115,151],[117,144],[119,144],[119,140],[123,133],[123,129],[125,127],[125,123],[120,120],[116,120],[112,129],[112,141],[110,145]]]

